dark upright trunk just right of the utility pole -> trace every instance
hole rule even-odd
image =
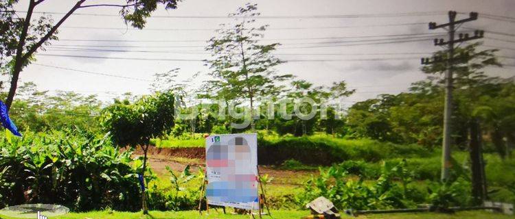
[[[485,198],[483,156],[481,155],[481,127],[476,119],[470,122],[470,163],[472,170],[472,202],[481,205]]]

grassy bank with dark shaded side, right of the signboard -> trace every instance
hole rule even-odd
[[[329,166],[346,160],[379,162],[393,157],[427,157],[422,146],[400,145],[376,140],[344,140],[327,135],[268,138],[258,136],[260,164],[282,164],[295,159],[303,164]]]

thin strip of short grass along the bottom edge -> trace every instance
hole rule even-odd
[[[221,210],[219,210],[221,211]],[[280,219],[299,219],[308,216],[309,211],[272,211],[273,218]],[[3,218],[3,217],[1,217]],[[141,212],[119,212],[119,211],[91,211],[86,213],[69,213],[64,216],[52,217],[56,219],[161,219],[161,218],[177,218],[177,219],[191,219],[191,218],[222,218],[222,219],[238,219],[249,218],[249,216],[222,214],[211,209],[209,215],[204,214],[201,216],[198,211],[150,211],[148,216],[144,216]],[[263,218],[270,218],[264,216]],[[352,218],[350,216],[343,216],[343,218]],[[436,213],[419,213],[419,214],[370,214],[358,216],[357,218],[386,218],[386,219],[401,219],[401,218],[418,218],[418,219],[457,219],[457,218],[499,218],[508,219],[515,218],[514,216],[507,216],[503,214],[490,213],[488,211],[459,211],[455,214],[436,214]],[[14,219],[14,218],[3,218]]]

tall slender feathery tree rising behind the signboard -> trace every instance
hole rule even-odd
[[[272,55],[279,43],[260,44],[268,25],[255,27],[259,16],[256,4],[247,3],[234,14],[236,25],[225,24],[217,30],[219,36],[209,40],[205,48],[211,52],[207,65],[215,80],[207,81],[205,97],[226,101],[249,101],[251,114],[259,97],[277,94],[283,81],[291,75],[276,75],[274,66],[282,63]],[[213,94],[212,92],[215,92]],[[211,92],[211,94],[209,94]],[[254,122],[251,121],[251,127]]]

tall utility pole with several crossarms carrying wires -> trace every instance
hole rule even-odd
[[[449,11],[449,23],[437,25],[434,22],[429,23],[429,29],[444,28],[448,31],[448,40],[445,42],[444,39],[435,39],[435,46],[447,45],[447,57],[433,57],[433,60],[429,58],[422,58],[422,64],[434,64],[436,62],[446,62],[446,73],[445,73],[445,106],[444,106],[444,141],[442,144],[442,181],[446,181],[449,177],[449,169],[452,166],[450,162],[450,134],[452,133],[451,118],[453,116],[453,64],[457,59],[461,57],[455,57],[455,43],[466,42],[469,40],[476,40],[483,38],[483,31],[474,31],[474,36],[469,37],[468,34],[459,34],[459,38],[455,40],[456,25],[461,25],[469,21],[477,20],[477,12],[470,12],[469,18],[461,19],[456,21],[456,12]],[[447,27],[447,28],[446,28]]]

